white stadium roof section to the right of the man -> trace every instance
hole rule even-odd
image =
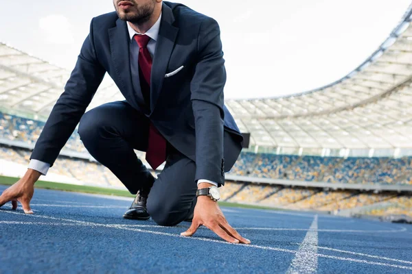
[[[370,58],[337,82],[297,95],[228,100],[226,105],[256,145],[412,147],[411,21],[412,5]]]

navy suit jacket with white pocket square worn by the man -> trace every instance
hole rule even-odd
[[[218,23],[185,5],[163,2],[150,108],[140,87],[133,88],[129,42],[126,22],[116,12],[93,18],[65,92],[54,105],[31,158],[54,163],[107,72],[126,101],[196,162],[196,180],[224,184],[224,171],[233,165],[224,164],[224,131],[239,142],[239,148],[242,135],[224,105],[226,72]],[[165,77],[181,66],[179,73]],[[227,153],[237,158],[240,149]]]

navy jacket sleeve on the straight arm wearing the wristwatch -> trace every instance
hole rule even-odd
[[[198,36],[198,60],[191,83],[196,128],[196,177],[222,184],[223,171],[223,88],[225,60],[218,23],[207,18]]]

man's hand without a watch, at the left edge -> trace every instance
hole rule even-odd
[[[41,173],[38,173],[38,171],[29,169],[16,184],[3,191],[0,196],[0,207],[11,201],[12,209],[16,210],[17,201],[19,201],[26,214],[33,214],[33,211],[30,209],[30,200],[34,194],[34,183],[40,176]]]

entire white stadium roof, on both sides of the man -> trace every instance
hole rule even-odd
[[[328,86],[226,105],[241,131],[251,132],[251,145],[411,148],[411,21],[412,5],[370,58]],[[68,78],[69,71],[0,43],[0,107],[47,116]],[[106,77],[89,108],[122,99]]]

